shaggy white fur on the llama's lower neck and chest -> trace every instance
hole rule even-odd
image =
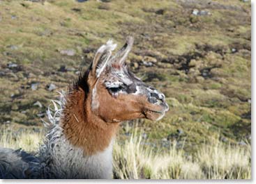
[[[40,158],[45,162],[43,172],[46,176],[43,178],[112,178],[114,140],[105,151],[84,156],[81,148],[73,146],[66,139],[59,124],[64,101],[53,101],[54,112],[50,109],[47,112],[50,123],[45,124],[49,132],[45,144],[40,147]]]

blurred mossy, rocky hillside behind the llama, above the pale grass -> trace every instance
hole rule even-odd
[[[112,38],[133,34],[127,65],[167,97],[159,122],[137,124],[144,144],[194,153],[217,137],[241,147],[251,133],[251,9],[247,0],[0,1],[0,136],[40,133],[51,99]],[[184,142],[186,142],[184,144]],[[1,145],[3,146],[3,145]]]

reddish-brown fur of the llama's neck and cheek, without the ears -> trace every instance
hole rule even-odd
[[[89,83],[95,83],[89,80]],[[143,96],[120,94],[113,98],[103,84],[97,92],[100,107],[91,111],[91,93],[85,94],[82,88],[73,90],[68,96],[63,116],[63,129],[71,144],[82,147],[86,155],[93,155],[106,149],[119,127],[119,122],[144,118],[145,107],[156,109]],[[91,88],[90,88],[91,89]],[[87,97],[86,97],[87,96]]]

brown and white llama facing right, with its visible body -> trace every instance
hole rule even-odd
[[[125,60],[133,37],[112,56],[116,44],[103,44],[89,69],[68,94],[47,111],[45,142],[33,156],[0,148],[0,178],[112,178],[112,147],[120,122],[161,119],[165,95],[131,73]]]

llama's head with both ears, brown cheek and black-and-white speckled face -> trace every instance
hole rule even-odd
[[[91,113],[105,122],[129,119],[161,119],[169,107],[165,95],[146,85],[124,64],[133,45],[133,37],[112,56],[112,40],[101,46],[89,69],[87,83]]]

